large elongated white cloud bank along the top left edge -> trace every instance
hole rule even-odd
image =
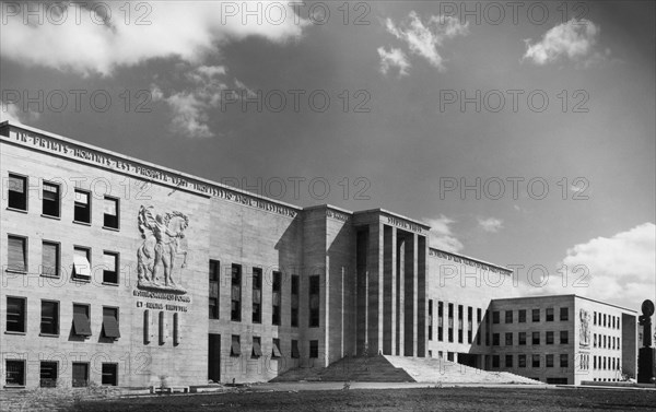
[[[298,38],[308,24],[286,2],[196,1],[185,7],[173,1],[143,2],[132,5],[129,16],[124,3],[33,4],[48,19],[39,23],[31,17],[25,24],[27,7],[16,2],[17,12],[12,9],[3,15],[1,56],[25,66],[109,75],[118,67],[156,58],[198,64],[223,44],[248,36],[288,42]],[[260,12],[250,15],[244,13],[246,8]]]

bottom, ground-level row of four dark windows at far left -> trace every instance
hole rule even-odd
[[[5,385],[7,386],[25,386],[26,369],[25,361],[23,360],[7,360],[5,361]],[[103,363],[102,364],[102,385],[117,386],[118,385],[118,364]],[[39,386],[42,388],[55,387],[59,379],[59,362],[57,361],[40,361],[39,364]],[[72,363],[72,379],[73,388],[85,387],[89,385],[89,363],[73,362]]]

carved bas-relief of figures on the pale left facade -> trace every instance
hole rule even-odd
[[[178,271],[176,258],[184,256],[181,269],[187,266],[185,229],[189,219],[178,211],[161,214],[154,207],[139,209],[139,232],[143,242],[137,250],[139,289],[185,294],[187,291],[174,280]],[[162,284],[162,282],[164,284]]]

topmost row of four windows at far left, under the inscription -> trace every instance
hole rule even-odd
[[[27,176],[9,174],[8,185],[9,209],[27,211],[28,197]],[[91,191],[74,189],[73,222],[91,224]],[[119,200],[109,196],[103,197],[103,227],[118,229]],[[52,181],[42,183],[42,215],[61,217],[61,187]]]

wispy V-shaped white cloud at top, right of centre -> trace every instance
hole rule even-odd
[[[469,22],[460,24],[458,19],[452,16],[433,15],[424,25],[414,11],[411,11],[408,19],[400,24],[387,19],[385,27],[387,32],[405,42],[413,55],[423,57],[440,71],[444,71],[445,67],[437,48],[442,47],[445,39],[469,33]]]

